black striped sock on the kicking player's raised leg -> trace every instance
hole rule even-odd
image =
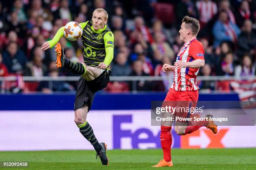
[[[65,59],[64,67],[78,75],[83,75],[86,72],[85,65],[79,62],[72,62],[67,58]]]

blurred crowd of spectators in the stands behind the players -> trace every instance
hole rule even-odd
[[[164,91],[173,72],[161,72],[173,64],[183,46],[179,28],[185,15],[200,21],[197,39],[205,49],[205,67],[198,75],[255,75],[255,0],[5,0],[0,2],[0,76],[18,76],[2,82],[2,91],[74,91],[76,82],[22,82],[22,76],[74,76],[55,66],[54,49],[41,45],[69,21],[91,20],[96,8],[109,14],[108,26],[115,40],[111,76],[164,76],[164,81],[110,82],[107,91]],[[82,41],[59,41],[69,60],[83,62]],[[216,89],[211,81],[201,89]]]

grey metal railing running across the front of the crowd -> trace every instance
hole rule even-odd
[[[10,84],[12,81],[16,81],[17,85],[23,84],[23,82],[40,82],[40,81],[48,81],[49,87],[52,90],[52,82],[53,81],[78,81],[79,76],[60,76],[60,77],[51,77],[51,76],[44,76],[44,77],[33,77],[33,76],[8,76],[8,77],[0,77],[0,83],[2,82],[2,86],[4,84]],[[132,91],[137,92],[136,89],[136,81],[163,81],[164,86],[166,89],[171,85],[171,82],[173,81],[173,75],[170,76],[110,76],[110,81],[125,81],[125,82],[132,82]],[[233,88],[238,87],[233,82],[238,82],[238,84],[241,82],[246,83],[247,87],[249,87],[248,90],[252,90],[251,88],[256,88],[254,84],[256,84],[256,76],[198,76],[197,82],[200,81],[214,81],[215,87],[214,90],[221,90],[221,91],[229,91],[230,85],[234,86]],[[232,84],[233,83],[233,84]],[[9,85],[10,86],[10,85]],[[35,87],[33,87],[33,84],[29,84],[30,88],[33,89],[32,91],[35,91]],[[32,87],[31,87],[32,86]],[[250,87],[251,86],[251,87]],[[4,87],[2,87],[4,88]],[[244,87],[241,87],[244,89]],[[30,89],[30,90],[31,90]]]

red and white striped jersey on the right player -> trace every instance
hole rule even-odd
[[[205,50],[202,43],[197,39],[184,43],[182,49],[179,51],[176,62],[181,60],[182,62],[192,62],[193,60],[204,58]],[[174,82],[171,88],[176,91],[191,91],[198,90],[197,86],[197,73],[199,68],[175,68],[174,70]]]

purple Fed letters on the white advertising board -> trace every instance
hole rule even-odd
[[[154,128],[159,129],[159,133],[157,133],[157,135],[154,135],[152,130],[149,128],[138,128],[134,133],[132,133],[131,130],[122,130],[122,123],[131,123],[131,127],[141,127],[141,124],[135,125],[132,122],[132,115],[113,115],[113,149],[121,149],[121,138],[127,137],[131,138],[131,144],[133,149],[139,148],[138,145],[140,143],[155,143],[156,148],[161,148],[161,142],[159,138],[161,131],[159,126],[154,126]],[[139,138],[139,135],[142,133],[146,134],[147,138]],[[180,148],[180,136],[178,136],[176,133],[172,133],[172,136],[173,147]]]

